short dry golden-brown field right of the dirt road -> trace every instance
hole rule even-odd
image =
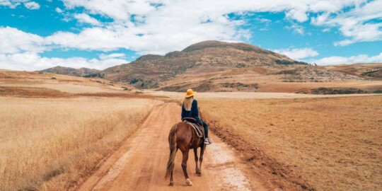
[[[382,96],[199,102],[212,129],[280,183],[382,187]]]

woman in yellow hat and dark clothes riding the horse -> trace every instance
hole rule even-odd
[[[206,139],[204,140],[204,144],[211,144],[208,138],[208,125],[202,121],[199,117],[199,109],[197,108],[197,100],[194,100],[194,96],[196,96],[196,91],[192,91],[192,89],[188,89],[185,94],[185,100],[183,100],[182,104],[182,119],[184,117],[192,117],[197,120],[199,125],[203,125],[204,134]]]

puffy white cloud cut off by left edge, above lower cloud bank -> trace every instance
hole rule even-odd
[[[18,52],[43,52],[45,40],[39,35],[25,33],[16,28],[0,27],[0,54]]]

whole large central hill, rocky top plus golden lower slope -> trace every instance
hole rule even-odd
[[[199,42],[164,56],[144,55],[100,74],[135,88],[163,91],[195,88],[197,91],[306,92],[320,87],[356,87],[364,91],[381,88],[379,83],[369,88],[365,76],[311,66],[245,43],[219,41]]]

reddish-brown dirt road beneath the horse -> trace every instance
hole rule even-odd
[[[187,170],[193,185],[186,186],[178,152],[174,186],[169,187],[168,180],[163,180],[169,155],[168,132],[179,118],[180,106],[176,103],[156,108],[79,190],[267,190],[241,163],[239,154],[213,134],[214,144],[207,146],[202,176],[195,175],[190,151]]]

